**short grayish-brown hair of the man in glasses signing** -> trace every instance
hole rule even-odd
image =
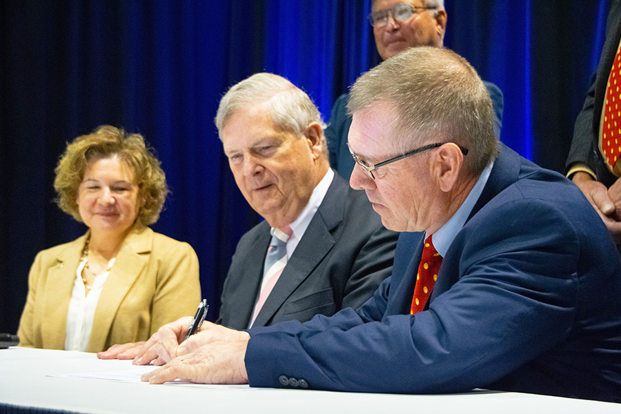
[[[475,175],[497,156],[489,92],[470,63],[449,49],[411,48],[359,77],[348,112],[377,105],[395,111],[392,144],[402,153],[454,142],[469,149],[464,164]]]

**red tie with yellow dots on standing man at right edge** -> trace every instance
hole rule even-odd
[[[621,155],[621,53],[613,62],[606,87],[606,100],[604,101],[604,114],[600,128],[600,150],[604,161],[615,175],[615,164]],[[621,166],[620,166],[621,167]]]

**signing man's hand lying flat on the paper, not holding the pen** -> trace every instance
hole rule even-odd
[[[250,335],[240,334],[244,339],[201,346],[193,353],[176,357],[165,366],[144,374],[141,379],[150,384],[163,384],[177,378],[203,384],[246,384],[248,373],[244,357]]]

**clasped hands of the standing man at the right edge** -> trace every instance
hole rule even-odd
[[[574,182],[598,212],[617,244],[621,243],[621,181],[618,179],[611,188],[595,181],[586,172],[576,172]]]

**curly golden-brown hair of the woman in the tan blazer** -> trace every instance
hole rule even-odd
[[[119,157],[130,166],[138,185],[138,199],[144,199],[137,219],[145,226],[155,223],[168,195],[166,175],[160,162],[140,134],[128,134],[121,128],[103,125],[81,135],[67,145],[56,167],[54,188],[61,210],[82,221],[77,205],[78,189],[91,161]]]

